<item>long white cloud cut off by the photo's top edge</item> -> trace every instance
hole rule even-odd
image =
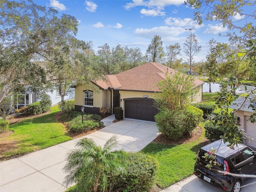
[[[180,4],[184,4],[184,0],[132,0],[132,2],[127,3],[124,8],[127,10],[136,6],[164,8],[165,6]]]

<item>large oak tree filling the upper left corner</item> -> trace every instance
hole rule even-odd
[[[32,0],[0,2],[0,102],[25,86],[46,82],[40,65],[63,34],[76,34],[76,18],[36,5]]]

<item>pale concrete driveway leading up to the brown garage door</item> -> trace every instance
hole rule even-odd
[[[102,120],[106,127],[83,136],[103,146],[117,135],[117,149],[138,152],[159,134],[155,122],[124,119],[112,123],[114,115]],[[0,162],[0,192],[64,192],[66,154],[75,148],[74,139],[19,158]]]

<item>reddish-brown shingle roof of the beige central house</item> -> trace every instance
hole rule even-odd
[[[165,80],[166,72],[171,75],[177,71],[156,62],[148,62],[116,75],[106,75],[105,80],[94,83],[102,89],[159,92],[156,84]],[[198,79],[194,80],[195,87],[201,84],[204,82]]]

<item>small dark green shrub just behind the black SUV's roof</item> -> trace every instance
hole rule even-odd
[[[214,126],[211,121],[206,121],[205,125],[205,137],[210,140],[210,142],[214,142],[220,139],[224,133],[218,128],[218,126]]]

